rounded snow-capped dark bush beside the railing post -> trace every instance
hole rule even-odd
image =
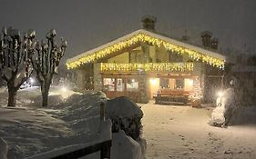
[[[134,140],[138,139],[142,124],[142,111],[137,104],[133,103],[128,97],[121,96],[108,100],[106,105],[106,115],[112,121],[112,132],[118,133],[123,130]]]

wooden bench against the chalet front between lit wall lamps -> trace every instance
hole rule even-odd
[[[155,104],[163,102],[179,102],[187,104],[189,102],[189,91],[161,89],[157,94],[154,94]]]

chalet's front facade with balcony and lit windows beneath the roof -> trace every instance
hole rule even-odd
[[[221,75],[222,69],[207,64],[204,59],[195,59],[193,55],[169,50],[165,45],[142,41],[117,50],[111,47],[118,43],[125,44],[122,40],[110,42],[110,46],[107,44],[110,51],[108,48],[105,50],[108,55],[77,66],[77,87],[81,91],[94,89],[104,92],[109,98],[125,95],[134,102],[148,103],[159,90],[188,93],[193,89],[193,80],[199,79],[205,101],[208,101],[209,95],[206,94],[209,91],[204,88],[209,88],[206,85],[209,83],[205,79],[209,79],[209,75]],[[186,47],[180,48],[188,53],[195,52],[188,51]],[[88,51],[86,58],[94,53],[100,54],[100,49]],[[207,57],[211,58],[210,55]]]

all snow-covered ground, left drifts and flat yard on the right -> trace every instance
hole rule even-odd
[[[0,89],[0,137],[9,145],[9,159],[87,144],[97,138],[97,104],[107,100],[105,94],[74,94],[53,87],[51,105],[46,109],[40,108],[40,95],[38,87],[26,88],[18,92],[18,107],[6,108],[6,90]],[[212,107],[138,105],[144,114],[142,136],[148,143],[148,159],[256,157],[256,107],[241,108],[233,125],[219,128],[208,124]],[[143,156],[143,145],[123,132],[113,134],[113,141],[111,154],[116,158]],[[125,148],[118,149],[120,145]],[[87,158],[96,156],[98,153]]]

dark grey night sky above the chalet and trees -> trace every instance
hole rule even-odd
[[[158,18],[159,33],[192,43],[210,30],[222,50],[256,51],[254,0],[0,0],[0,27],[36,30],[37,38],[56,28],[68,41],[68,57],[126,35],[141,27],[143,15]]]

